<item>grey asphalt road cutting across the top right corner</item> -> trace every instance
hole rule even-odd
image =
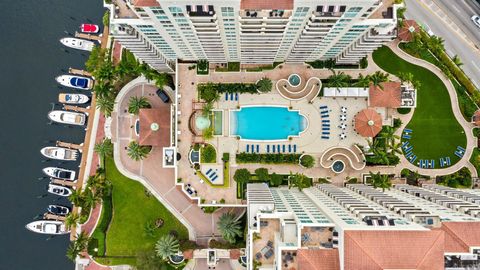
[[[480,14],[480,9],[465,1],[473,0],[405,0],[405,17],[426,25],[442,37],[447,53],[460,57],[462,69],[480,88],[480,28],[470,20],[477,10]]]

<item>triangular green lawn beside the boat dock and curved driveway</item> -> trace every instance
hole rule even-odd
[[[135,256],[138,251],[154,248],[161,235],[171,230],[179,239],[188,239],[187,229],[153,195],[147,196],[145,188],[137,181],[122,175],[113,162],[106,159],[107,179],[113,184],[113,218],[107,231],[106,256]],[[148,236],[147,222],[162,218],[164,224],[154,236]]]

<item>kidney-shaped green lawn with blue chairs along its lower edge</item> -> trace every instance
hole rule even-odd
[[[410,144],[417,162],[435,159],[436,168],[439,168],[440,157],[449,156],[452,165],[458,162],[454,152],[457,146],[465,148],[467,138],[453,115],[450,96],[443,82],[429,70],[404,61],[385,46],[373,53],[373,59],[383,70],[392,74],[410,72],[421,83],[417,91],[417,108],[407,124],[407,128],[413,131]]]

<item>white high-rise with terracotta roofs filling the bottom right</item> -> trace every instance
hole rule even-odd
[[[476,269],[478,196],[437,185],[249,184],[249,269]]]

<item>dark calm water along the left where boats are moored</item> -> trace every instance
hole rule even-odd
[[[73,269],[65,257],[67,237],[27,231],[24,225],[57,201],[46,194],[40,148],[49,140],[81,142],[81,128],[47,125],[51,102],[60,92],[54,77],[68,67],[83,67],[86,54],[58,42],[81,22],[101,24],[100,0],[1,0],[0,10],[0,269]],[[61,164],[75,168],[78,164]],[[39,198],[40,197],[40,198]]]

